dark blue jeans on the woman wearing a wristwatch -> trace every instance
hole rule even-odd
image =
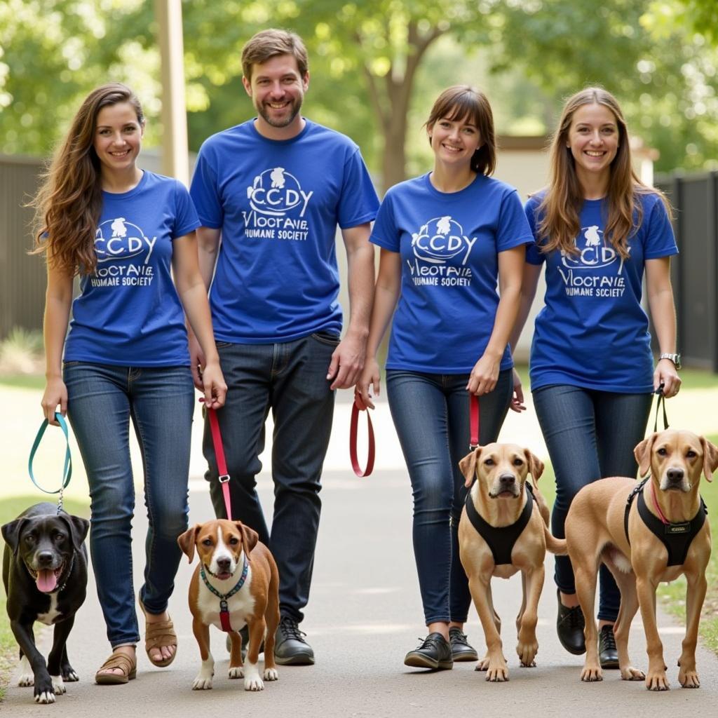
[[[633,449],[643,439],[652,394],[620,394],[556,384],[533,391],[538,423],[556,475],[551,531],[564,538],[564,522],[574,496],[585,485],[607,476],[635,477]],[[556,556],[556,586],[575,593],[568,556]],[[600,620],[615,621],[620,592],[611,572],[600,569]]]

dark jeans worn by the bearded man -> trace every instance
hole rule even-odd
[[[232,518],[269,546],[279,569],[281,615],[301,621],[309,601],[322,502],[322,464],[329,446],[335,392],[327,369],[339,337],[325,332],[281,344],[217,342],[227,382],[218,419],[230,475]],[[274,418],[271,536],[256,492],[264,423]],[[203,442],[215,515],[226,516],[209,422]]]

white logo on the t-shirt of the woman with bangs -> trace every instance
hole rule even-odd
[[[450,215],[435,217],[411,233],[414,259],[407,261],[414,284],[429,286],[468,286],[471,268],[467,261],[476,237]]]

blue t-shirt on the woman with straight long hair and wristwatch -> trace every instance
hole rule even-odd
[[[536,233],[543,195],[526,202]],[[653,391],[653,357],[648,317],[640,304],[646,259],[678,253],[673,228],[656,194],[637,195],[643,207],[638,231],[623,261],[605,238],[604,200],[585,200],[577,256],[534,245],[531,264],[546,262],[546,306],[536,317],[531,345],[531,388],[570,384],[600,391]]]

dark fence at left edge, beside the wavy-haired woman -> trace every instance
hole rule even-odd
[[[12,327],[39,329],[45,307],[45,261],[31,256],[32,209],[42,161],[0,155],[0,339]]]

